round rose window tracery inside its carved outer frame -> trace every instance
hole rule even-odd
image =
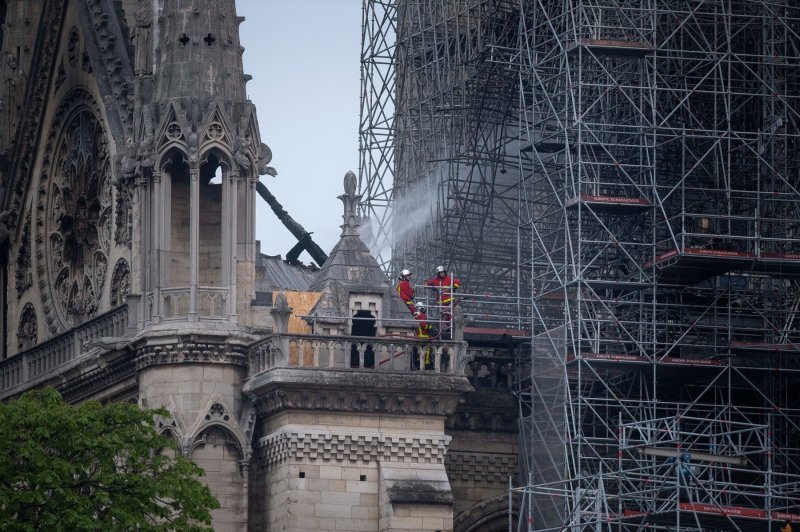
[[[52,161],[46,220],[53,302],[75,323],[97,313],[113,236],[108,143],[89,108],[65,120]]]

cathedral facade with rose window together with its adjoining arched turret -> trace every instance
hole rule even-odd
[[[243,530],[255,187],[274,171],[235,2],[11,0],[0,18],[3,396],[166,406],[215,526]]]

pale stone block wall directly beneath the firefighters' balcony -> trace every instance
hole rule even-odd
[[[265,505],[268,530],[452,530],[452,504],[396,504],[385,489],[402,470],[451,497],[442,419],[284,412],[262,433],[266,500],[251,504]]]

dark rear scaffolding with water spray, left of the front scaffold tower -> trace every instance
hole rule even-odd
[[[518,65],[506,57],[516,2],[364,5],[361,190],[373,249],[387,269],[443,264],[474,292],[516,294]]]

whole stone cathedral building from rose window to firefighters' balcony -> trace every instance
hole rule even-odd
[[[413,336],[351,173],[321,268],[260,254],[275,171],[242,21],[234,0],[0,0],[0,400],[164,407],[219,531],[502,528],[518,341]]]

